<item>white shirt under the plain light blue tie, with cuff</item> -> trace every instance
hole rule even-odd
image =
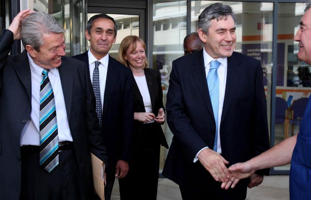
[[[204,66],[205,66],[205,73],[206,78],[209,72],[210,62],[215,60],[210,55],[207,54],[206,50],[203,50],[203,58],[204,58]],[[219,78],[219,104],[218,104],[218,131],[217,131],[217,152],[222,153],[222,147],[220,143],[220,122],[222,118],[223,113],[223,105],[224,105],[224,99],[225,99],[225,84],[227,80],[227,58],[218,58],[217,59],[220,62],[220,66],[217,69],[217,74]],[[207,91],[208,92],[208,91]],[[208,148],[208,147],[205,147]],[[202,150],[204,150],[203,148]],[[202,151],[199,150],[199,152],[196,154],[193,162],[196,162],[198,154]]]

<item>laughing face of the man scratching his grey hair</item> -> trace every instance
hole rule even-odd
[[[61,57],[66,54],[65,47],[63,33],[50,33],[43,36],[43,45],[40,46],[39,51],[30,45],[26,45],[26,50],[35,64],[46,69],[52,69],[62,64]]]

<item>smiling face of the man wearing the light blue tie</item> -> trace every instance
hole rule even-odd
[[[235,49],[237,35],[233,18],[228,15],[218,21],[212,19],[208,33],[199,29],[199,37],[205,50],[214,59],[230,57]]]

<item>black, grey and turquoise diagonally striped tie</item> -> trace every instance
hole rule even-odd
[[[58,165],[58,133],[49,71],[43,69],[40,85],[40,166],[51,172]]]

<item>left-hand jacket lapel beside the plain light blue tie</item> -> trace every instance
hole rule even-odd
[[[213,108],[210,101],[209,93],[208,93],[208,86],[207,86],[207,79],[206,79],[206,73],[205,73],[205,66],[204,66],[204,58],[203,58],[203,50],[200,51],[200,53],[196,54],[198,57],[194,59],[193,66],[191,68],[192,72],[192,79],[197,84],[199,91],[202,95],[202,98],[205,102],[205,105],[207,106],[207,110],[210,112],[212,116],[213,114]]]

